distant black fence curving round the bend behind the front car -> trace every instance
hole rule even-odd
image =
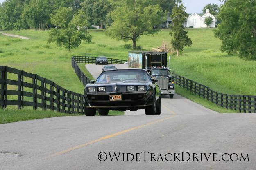
[[[84,75],[83,71],[79,68],[78,63],[95,63],[97,57],[88,57],[88,56],[74,56],[71,59],[72,67],[74,68],[75,73],[77,74],[79,80],[85,86],[90,82],[90,79]],[[109,64],[122,64],[127,62],[126,60],[108,58]]]

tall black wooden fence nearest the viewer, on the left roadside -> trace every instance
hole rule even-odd
[[[84,113],[83,95],[36,74],[0,66],[0,107],[32,106],[63,113]]]

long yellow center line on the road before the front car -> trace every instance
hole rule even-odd
[[[83,148],[84,146],[87,146],[87,145],[90,145],[90,144],[94,144],[94,143],[96,143],[96,142],[103,141],[103,140],[105,140],[105,139],[109,139],[109,138],[112,138],[112,137],[116,137],[116,136],[118,136],[118,135],[122,135],[122,134],[127,133],[127,132],[130,132],[130,131],[132,131],[132,130],[136,130],[136,129],[139,129],[139,128],[143,128],[143,127],[145,127],[145,126],[150,126],[150,125],[152,125],[152,124],[156,124],[156,123],[159,123],[159,122],[161,122],[161,121],[168,120],[168,119],[170,119],[170,118],[172,118],[172,117],[174,117],[174,115],[172,115],[172,116],[170,116],[170,117],[165,117],[165,118],[163,118],[163,119],[159,119],[159,120],[156,120],[156,121],[152,121],[152,122],[149,122],[149,123],[147,123],[147,124],[143,124],[143,125],[140,125],[140,126],[136,126],[136,127],[134,127],[134,128],[130,128],[130,129],[123,130],[123,131],[120,131],[120,132],[117,132],[117,133],[113,133],[113,134],[111,134],[111,135],[107,135],[107,136],[101,137],[101,138],[99,138],[99,139],[90,141],[90,142],[88,142],[88,143],[81,144],[81,145],[78,145],[78,146],[69,148],[69,149],[67,149],[67,150],[62,150],[62,151],[60,151],[60,152],[54,153],[52,156],[47,157],[47,158],[52,158],[52,157],[55,157],[55,156],[58,156],[58,155],[62,155],[62,154],[65,154],[65,153],[67,153],[67,152],[70,152],[70,151],[72,151],[72,150],[76,150],[76,149],[79,149],[79,148]]]

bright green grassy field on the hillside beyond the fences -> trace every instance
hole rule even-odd
[[[180,57],[172,55],[171,67],[177,74],[205,84],[218,92],[256,95],[256,62],[222,53],[219,50],[221,42],[214,37],[212,30],[188,29],[193,45],[191,48],[185,48]],[[0,34],[0,65],[38,74],[77,93],[83,92],[83,86],[71,66],[73,55],[104,55],[127,60],[129,51],[123,48],[125,42],[111,39],[102,31],[90,31],[93,36],[92,43],[83,42],[78,49],[71,52],[55,44],[47,44],[47,31],[4,32],[27,36],[30,40]],[[152,47],[161,46],[163,41],[169,43],[171,37],[168,32],[169,30],[161,30],[154,36],[145,35],[138,40],[137,45],[143,46],[145,50],[151,50]],[[186,96],[186,91],[183,95]],[[196,96],[187,97],[194,99]]]

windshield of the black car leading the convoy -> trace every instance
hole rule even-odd
[[[112,70],[103,72],[95,83],[113,83],[124,81],[150,82],[151,78],[144,70]]]

